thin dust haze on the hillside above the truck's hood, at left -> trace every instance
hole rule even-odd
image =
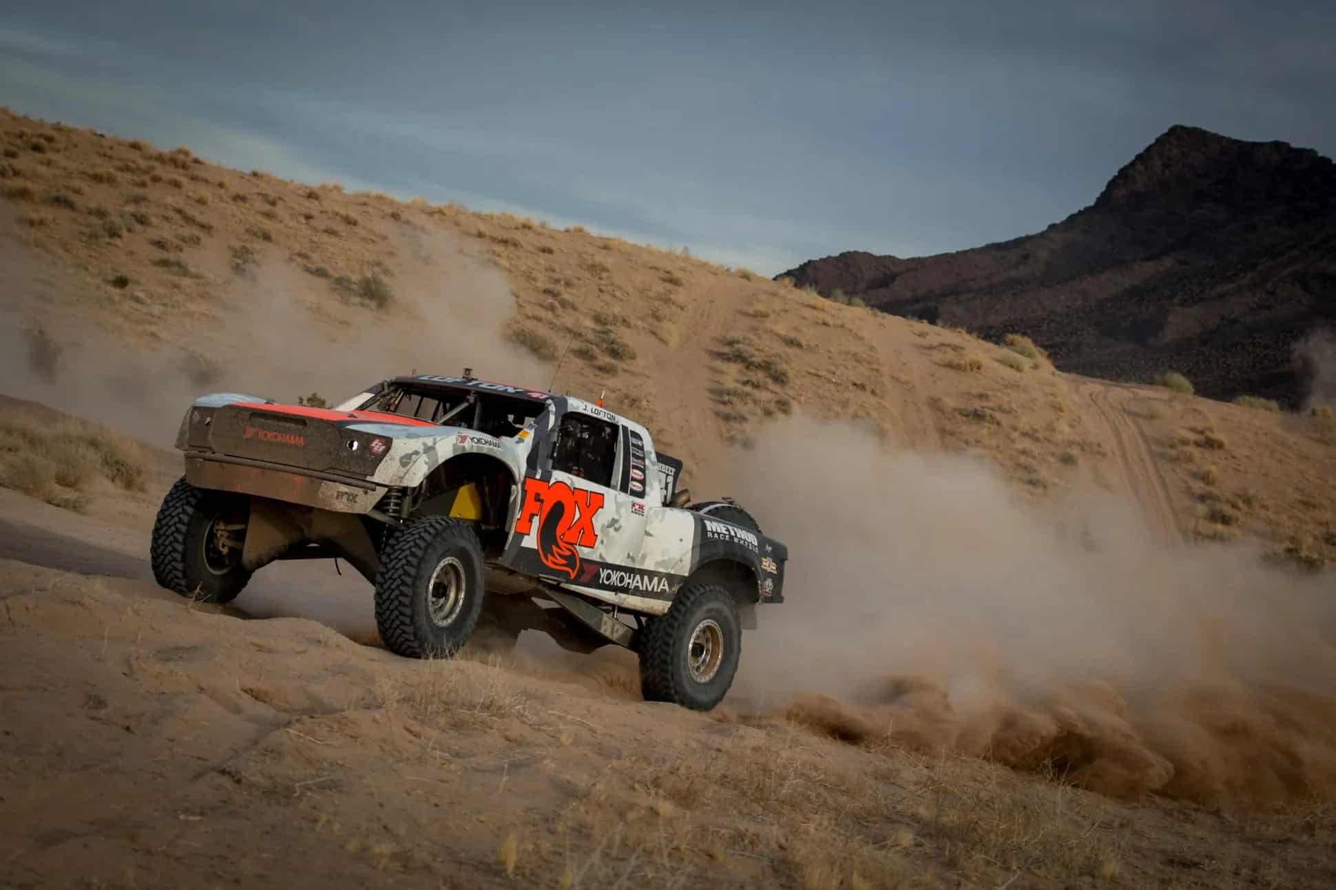
[[[315,392],[337,404],[385,377],[465,366],[546,386],[550,365],[504,337],[514,297],[498,270],[445,233],[409,225],[397,227],[386,253],[393,305],[374,310],[277,251],[239,271],[220,249],[195,251],[190,263],[210,281],[211,303],[132,286],[124,298],[154,318],[136,350],[103,331],[96,313],[56,315],[44,295],[47,270],[7,247],[3,389],[171,446],[190,400],[211,392],[281,402]]]

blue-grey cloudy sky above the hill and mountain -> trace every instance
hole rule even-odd
[[[1336,4],[49,0],[0,103],[775,275],[1014,238],[1173,124],[1336,155]]]

